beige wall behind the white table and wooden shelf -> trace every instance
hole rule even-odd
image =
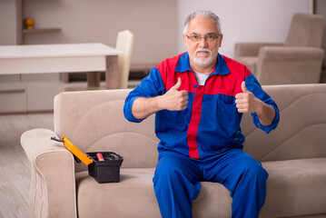
[[[25,0],[35,28],[61,32],[25,35],[25,44],[103,43],[115,46],[119,31],[135,35],[133,64],[152,64],[177,53],[176,0]],[[0,0],[0,45],[16,44],[15,0]]]

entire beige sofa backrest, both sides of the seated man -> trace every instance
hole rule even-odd
[[[281,112],[279,126],[265,134],[244,114],[244,150],[260,161],[326,157],[326,84],[265,85]],[[158,139],[154,116],[140,124],[123,117],[130,90],[67,92],[54,98],[54,132],[84,153],[111,151],[123,155],[122,167],[154,167]],[[85,170],[76,164],[76,172]]]

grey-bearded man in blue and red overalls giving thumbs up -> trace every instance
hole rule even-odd
[[[157,64],[126,98],[125,118],[156,114],[159,160],[153,186],[163,217],[192,217],[201,181],[222,183],[232,217],[258,217],[268,173],[242,151],[242,113],[267,134],[280,119],[277,105],[243,64],[218,53],[218,16],[197,11],[185,21],[187,53]],[[263,144],[262,144],[263,146]]]

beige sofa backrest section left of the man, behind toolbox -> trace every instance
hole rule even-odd
[[[122,167],[154,167],[158,139],[154,116],[141,124],[123,117],[124,99],[130,90],[65,92],[54,97],[54,132],[65,135],[82,152],[115,152]],[[76,172],[86,170],[75,164]]]

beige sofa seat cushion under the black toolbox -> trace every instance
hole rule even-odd
[[[88,172],[76,174],[78,217],[161,217],[153,191],[154,168],[120,171],[119,183],[97,183]],[[219,183],[202,183],[193,202],[194,217],[229,217],[232,198]]]

